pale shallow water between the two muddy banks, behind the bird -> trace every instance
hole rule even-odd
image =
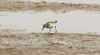
[[[52,11],[0,12],[1,29],[26,29],[26,32],[41,32],[42,24],[51,20],[58,20],[58,32],[100,33],[100,12],[80,10],[66,13]],[[48,31],[45,29],[43,32]]]

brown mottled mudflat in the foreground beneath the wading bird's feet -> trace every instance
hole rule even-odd
[[[0,55],[99,55],[100,35],[0,34]]]

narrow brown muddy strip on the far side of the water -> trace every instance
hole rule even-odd
[[[0,11],[59,11],[67,12],[72,10],[100,11],[97,4],[70,4],[57,2],[0,2]]]

